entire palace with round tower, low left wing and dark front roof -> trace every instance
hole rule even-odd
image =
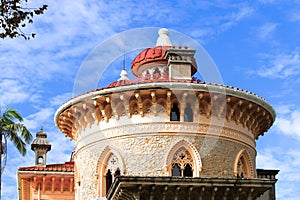
[[[256,140],[275,111],[256,94],[202,82],[195,50],[159,30],[120,79],[64,103],[59,130],[70,162],[46,164],[41,130],[33,167],[18,170],[19,199],[275,199],[278,170],[256,169]]]

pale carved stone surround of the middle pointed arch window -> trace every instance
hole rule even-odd
[[[193,177],[199,177],[200,172],[202,170],[202,162],[201,157],[194,145],[192,145],[190,142],[182,139],[180,141],[177,141],[175,144],[172,145],[172,147],[169,149],[169,153],[166,157],[166,168],[168,174],[172,175],[172,168],[177,167],[180,168],[179,165],[176,166],[177,163],[174,163],[174,160],[176,160],[176,156],[178,157],[179,154],[184,153],[188,158],[186,160],[186,163],[183,165],[187,168],[191,168]],[[184,169],[189,170],[189,169]],[[183,170],[183,173],[184,173]]]

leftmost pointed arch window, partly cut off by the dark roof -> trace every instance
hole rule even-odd
[[[125,174],[124,159],[119,151],[106,146],[97,164],[98,197],[104,197],[116,175]]]

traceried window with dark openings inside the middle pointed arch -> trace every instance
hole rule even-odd
[[[193,158],[184,147],[179,148],[172,160],[172,176],[193,177]]]

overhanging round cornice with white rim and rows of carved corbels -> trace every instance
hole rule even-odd
[[[245,90],[207,83],[151,82],[106,88],[75,97],[57,110],[55,122],[66,136],[76,139],[78,132],[83,131],[88,124],[91,126],[95,121],[99,123],[102,120],[108,122],[114,116],[119,118],[121,111],[118,112],[117,105],[120,103],[123,104],[122,113],[129,117],[134,114],[144,116],[148,111],[145,107],[158,104],[159,97],[166,101],[164,107],[168,117],[174,99],[182,104],[184,109],[188,95],[194,95],[194,98],[198,99],[199,108],[196,110],[200,109],[199,114],[206,117],[216,115],[219,118],[226,115],[227,120],[248,127],[256,139],[263,135],[275,120],[275,111],[271,105],[263,98]]]

